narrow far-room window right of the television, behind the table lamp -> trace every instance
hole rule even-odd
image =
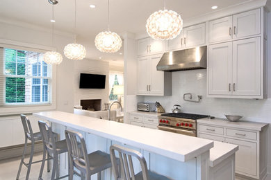
[[[117,94],[114,94],[114,85],[123,85],[123,73],[109,71],[109,100],[117,100]]]

